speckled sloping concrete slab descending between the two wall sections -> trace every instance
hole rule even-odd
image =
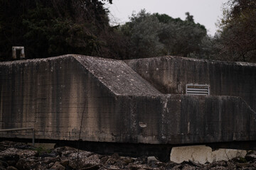
[[[89,72],[116,95],[157,96],[161,93],[121,60],[75,55]]]

